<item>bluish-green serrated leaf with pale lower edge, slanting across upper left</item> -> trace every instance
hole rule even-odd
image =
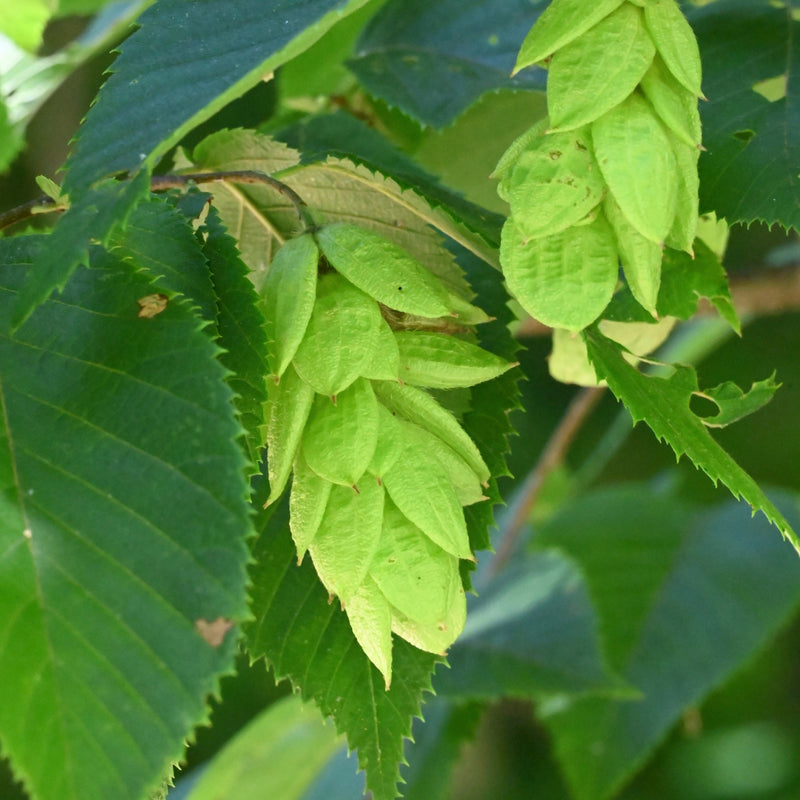
[[[280,0],[269,14],[259,0],[154,4],[122,45],[74,141],[64,190],[80,194],[105,175],[154,166],[193,127],[365,2],[309,0],[297,8]]]

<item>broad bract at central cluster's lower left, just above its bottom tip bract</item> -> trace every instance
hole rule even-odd
[[[383,525],[383,487],[364,481],[358,492],[333,486],[308,546],[325,588],[347,607],[369,571]]]

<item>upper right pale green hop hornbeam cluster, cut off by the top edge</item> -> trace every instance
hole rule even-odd
[[[619,265],[656,316],[664,245],[697,228],[700,54],[675,0],[553,0],[517,70],[548,69],[548,117],[495,170],[511,208],[500,260],[509,290],[554,328],[608,305]]]

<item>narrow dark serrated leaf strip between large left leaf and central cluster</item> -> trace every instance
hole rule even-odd
[[[215,208],[208,211],[203,234],[203,253],[216,294],[218,341],[224,351],[219,360],[231,372],[228,385],[246,432],[250,463],[257,469],[264,446],[269,372],[264,316],[236,242],[225,231]]]

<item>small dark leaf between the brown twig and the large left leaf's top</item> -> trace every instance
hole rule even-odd
[[[114,254],[146,269],[168,292],[179,292],[215,323],[217,302],[208,263],[189,222],[166,200],[151,197],[131,212],[124,229],[109,237]]]

